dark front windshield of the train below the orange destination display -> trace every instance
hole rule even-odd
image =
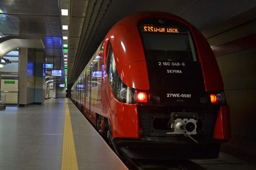
[[[147,60],[196,61],[190,33],[141,32]]]

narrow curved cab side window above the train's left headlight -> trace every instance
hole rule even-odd
[[[111,43],[109,42],[109,48],[108,48],[108,55],[107,55],[107,63],[106,63],[106,71],[108,76],[108,81],[110,84],[111,89],[114,88],[114,80],[115,80],[115,73],[116,73],[116,62],[115,57],[113,53],[113,49],[111,46]]]

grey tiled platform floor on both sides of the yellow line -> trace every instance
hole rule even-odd
[[[68,99],[79,169],[127,169]],[[0,111],[0,170],[61,169],[66,99]]]

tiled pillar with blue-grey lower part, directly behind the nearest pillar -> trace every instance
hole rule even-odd
[[[43,51],[36,51],[35,69],[35,104],[44,104],[45,100],[45,54]]]

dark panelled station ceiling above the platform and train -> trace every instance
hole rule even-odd
[[[69,9],[67,66],[68,84],[72,86],[109,29],[127,15],[139,11],[170,12],[204,31],[253,8],[256,1],[0,0],[0,32],[4,36],[42,36],[46,61],[59,60],[63,68],[63,6]]]

